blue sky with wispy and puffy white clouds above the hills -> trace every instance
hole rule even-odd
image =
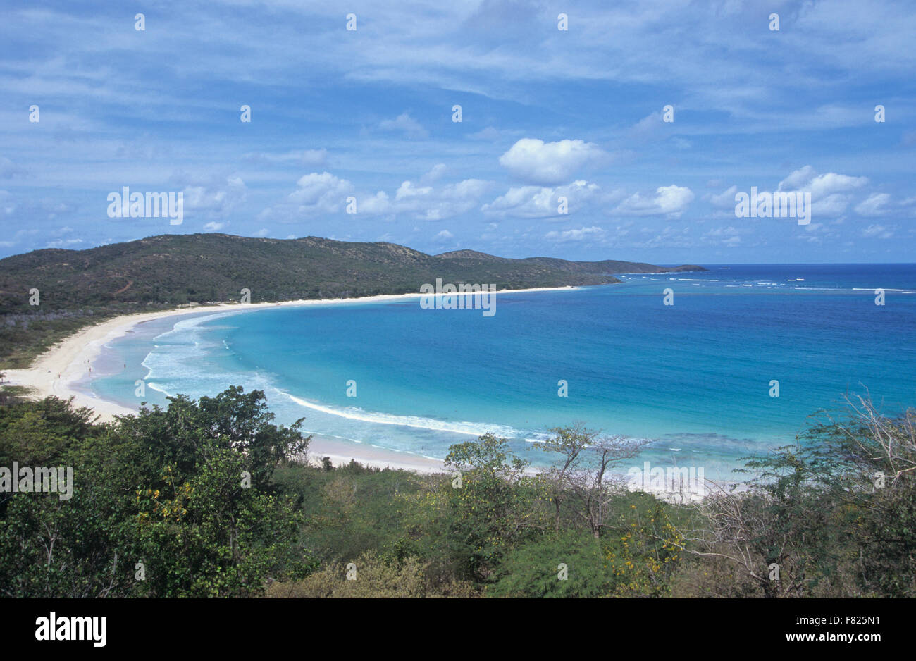
[[[8,0],[0,256],[224,232],[912,262],[914,36],[910,2],[870,0]],[[182,192],[183,222],[109,218],[125,186]],[[751,187],[810,191],[811,223],[736,218]]]

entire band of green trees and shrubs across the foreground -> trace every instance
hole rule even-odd
[[[639,450],[582,425],[527,470],[505,439],[450,473],[303,461],[299,423],[230,388],[112,423],[0,406],[0,466],[73,467],[72,495],[0,492],[6,597],[912,597],[916,411],[867,398],[747,461],[702,502],[629,492]],[[714,485],[710,485],[714,487]]]

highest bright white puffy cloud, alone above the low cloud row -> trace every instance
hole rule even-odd
[[[499,157],[499,164],[513,176],[534,184],[551,186],[573,179],[589,164],[606,157],[601,147],[582,140],[560,140],[545,143],[536,138],[522,138]]]

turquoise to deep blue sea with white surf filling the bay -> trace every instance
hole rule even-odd
[[[581,421],[655,439],[647,461],[706,477],[791,442],[847,393],[916,406],[916,265],[708,268],[498,294],[492,317],[416,298],[157,320],[109,344],[90,387],[128,406],[136,379],[162,405],[259,388],[279,422],[436,459],[493,431],[537,462],[532,439]]]

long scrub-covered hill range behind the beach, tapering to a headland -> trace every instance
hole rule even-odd
[[[114,315],[239,300],[357,298],[420,291],[442,278],[497,289],[620,282],[615,274],[704,271],[555,257],[512,259],[474,250],[427,255],[404,245],[315,236],[266,239],[162,234],[87,250],[36,250],[0,259],[0,368],[25,367],[55,342]],[[30,303],[38,290],[38,305]],[[34,298],[33,298],[34,301]]]

